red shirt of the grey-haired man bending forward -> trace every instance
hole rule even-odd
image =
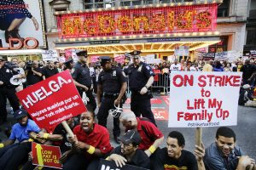
[[[150,140],[146,133],[143,131],[143,127],[145,127],[146,131],[148,132],[148,136],[153,140]],[[140,133],[140,136],[142,138],[142,143],[139,144],[138,149],[140,150],[148,150],[148,148],[154,144],[154,140],[162,138],[164,135],[160,132],[160,129],[158,127],[155,127],[155,125],[152,122],[140,120],[140,118],[137,117],[137,132]]]

